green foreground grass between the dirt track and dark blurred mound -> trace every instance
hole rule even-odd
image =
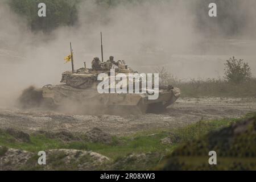
[[[256,115],[256,113],[246,115],[245,118],[252,115]],[[159,163],[165,160],[166,156],[172,154],[172,151],[182,146],[183,143],[194,141],[213,131],[219,131],[237,121],[241,121],[241,119],[199,121],[178,129],[144,131],[127,137],[113,137],[112,143],[109,144],[86,142],[86,140],[64,142],[57,138],[48,138],[44,134],[32,134],[30,135],[30,142],[22,142],[7,133],[7,131],[1,131],[0,146],[2,147],[0,156],[5,154],[7,151],[6,147],[35,152],[35,156],[32,156],[26,166],[20,169],[42,169],[32,165],[38,159],[38,156],[36,156],[38,151],[60,148],[77,149],[97,152],[112,159],[108,165],[102,166],[102,169],[147,170],[158,166]],[[164,143],[163,139],[166,138],[170,139],[170,142]],[[65,166],[65,156],[67,154],[63,152],[57,153],[56,156],[51,155],[51,167],[54,169],[60,169],[60,167],[61,169],[77,169],[78,164],[84,163],[81,160],[87,160],[86,156],[82,156],[82,158],[74,160],[73,163],[71,162],[72,164]]]

